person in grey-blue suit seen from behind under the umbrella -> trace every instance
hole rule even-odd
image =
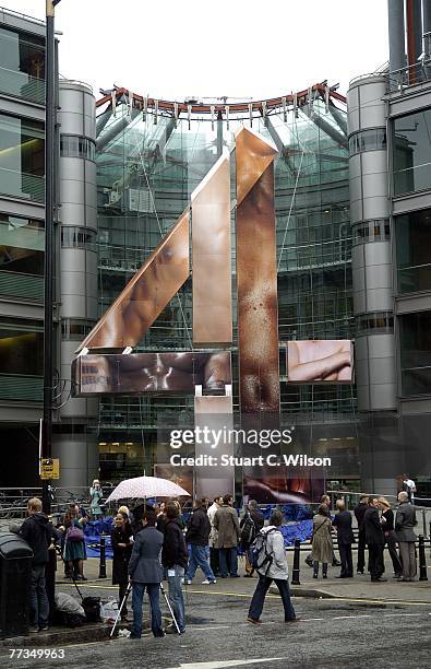
[[[129,562],[129,579],[132,584],[133,625],[130,638],[141,638],[142,600],[145,588],[152,609],[152,631],[154,636],[165,636],[161,626],[159,601],[163,567],[160,563],[164,536],[156,528],[156,514],[146,510],[142,517],[143,529],[136,535]]]

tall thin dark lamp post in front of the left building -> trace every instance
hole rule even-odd
[[[55,131],[56,131],[56,73],[53,8],[60,0],[46,0],[45,45],[45,291],[44,291],[44,420],[41,433],[43,458],[52,455],[52,345],[53,345],[53,214],[55,214]],[[50,481],[43,481],[43,506],[50,513]]]

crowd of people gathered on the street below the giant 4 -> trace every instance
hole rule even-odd
[[[97,491],[97,488],[95,488]],[[98,497],[98,495],[97,495]],[[411,582],[416,577],[415,506],[407,491],[398,493],[396,514],[385,497],[361,496],[354,514],[358,525],[357,573],[364,574],[366,548],[368,571],[373,583],[385,580],[383,574],[384,549],[392,560],[394,578]],[[96,497],[93,503],[98,503]],[[83,528],[85,516],[76,504],[70,505],[62,524],[57,528],[41,513],[40,500],[28,502],[28,518],[19,533],[33,549],[32,582],[29,591],[32,631],[46,630],[49,606],[45,588],[45,566],[48,549],[57,543],[61,548],[65,575],[86,580],[83,564],[86,549]],[[323,495],[313,517],[312,550],[307,562],[313,567],[313,577],[327,578],[328,564],[340,565],[338,578],[354,577],[352,515],[346,510],[343,500],[336,501],[337,513],[331,514],[331,498]],[[381,514],[379,513],[381,510]],[[127,594],[132,590],[133,621],[131,638],[142,634],[142,605],[144,592],[151,601],[151,626],[154,636],[185,632],[183,585],[190,585],[201,570],[202,585],[212,586],[217,578],[238,578],[238,547],[246,558],[244,577],[256,572],[258,584],[249,608],[248,621],[261,622],[265,595],[271,584],[277,586],[284,606],[285,621],[298,620],[290,601],[288,567],[284,537],[280,531],[283,514],[274,510],[268,525],[258,503],[251,500],[241,520],[229,494],[217,496],[213,503],[196,500],[192,514],[184,523],[177,500],[160,505],[141,504],[131,513],[120,506],[111,530],[112,584],[119,587],[119,601],[123,602],[121,618],[128,620]],[[337,536],[339,562],[334,552]],[[169,602],[176,624],[164,630],[159,605],[160,584],[168,583]]]

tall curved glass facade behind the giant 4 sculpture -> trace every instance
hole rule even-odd
[[[275,162],[275,203],[280,342],[354,338],[345,117],[345,111],[332,102],[326,105],[323,98],[316,98],[296,111],[275,109],[253,118],[252,129],[273,142],[279,154]],[[249,116],[231,115],[227,121],[193,113],[187,118],[175,118],[175,114],[159,110],[155,116],[154,109],[143,114],[125,103],[117,105],[115,115],[111,107],[99,115],[96,144],[99,315],[171,228],[223,149],[234,148],[235,132],[242,124],[250,127]],[[234,172],[235,152],[231,164]],[[231,189],[235,202],[234,174]],[[235,286],[234,239],[231,261]],[[235,307],[234,291],[234,314]],[[190,350],[191,328],[189,280],[142,340],[141,349]],[[234,321],[234,404],[238,408],[236,342]],[[337,455],[345,446],[343,466],[337,468],[335,457],[332,470],[335,462],[339,478],[347,476],[347,470],[356,474],[355,386],[287,385],[283,347],[280,376],[283,421],[302,431],[298,436],[303,451],[322,454],[325,443],[331,441]],[[112,445],[124,445],[127,450],[128,444],[132,449],[136,441],[142,442],[151,467],[156,459],[156,419],[163,410],[177,414],[180,422],[184,412],[192,412],[193,400],[101,400],[99,441],[101,451],[106,448],[101,467],[111,462],[100,472],[103,478],[115,478],[118,458],[113,455],[118,448],[117,451],[113,448],[109,459]],[[336,444],[332,442],[334,435]],[[124,471],[124,462],[121,467]]]

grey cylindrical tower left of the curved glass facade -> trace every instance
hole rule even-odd
[[[87,486],[98,473],[98,400],[70,397],[71,361],[97,320],[96,107],[89,86],[60,80],[59,220],[61,379],[64,384],[53,451],[60,485]]]

